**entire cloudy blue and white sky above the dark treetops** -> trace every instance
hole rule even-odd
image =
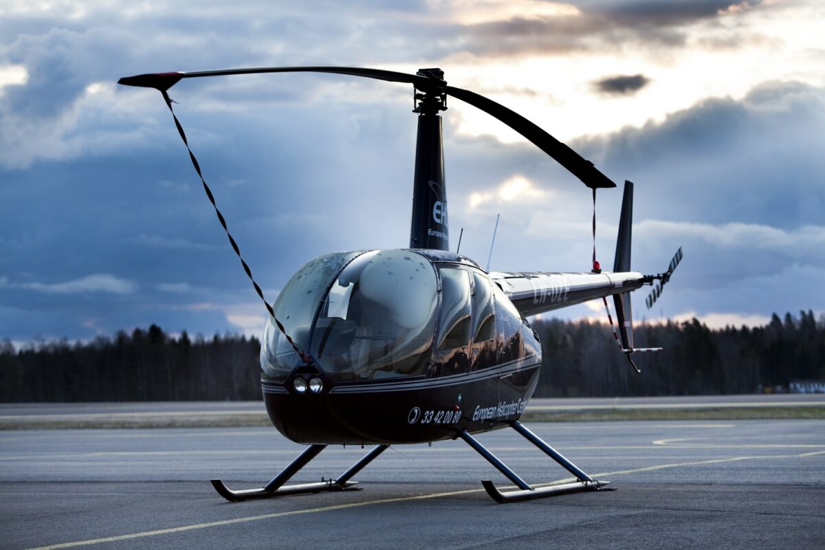
[[[634,270],[684,260],[653,310],[758,326],[825,313],[825,5],[757,0],[0,0],[0,339],[260,335],[266,310],[139,73],[340,65],[415,73],[525,115],[596,164],[612,266],[634,181]],[[328,251],[407,247],[408,85],[340,75],[170,91],[229,228],[274,300]],[[451,247],[491,270],[589,270],[592,196],[502,123],[443,113]],[[555,312],[599,318],[601,303]]]

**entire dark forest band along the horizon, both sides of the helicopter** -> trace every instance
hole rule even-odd
[[[765,327],[711,330],[696,319],[635,327],[636,374],[610,326],[532,322],[543,349],[535,397],[627,397],[787,391],[825,381],[825,317],[774,314]],[[261,398],[260,341],[236,335],[173,337],[157,325],[50,341],[0,342],[0,402],[240,400]]]

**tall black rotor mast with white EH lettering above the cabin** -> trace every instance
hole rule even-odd
[[[414,84],[418,135],[413,176],[413,220],[410,248],[450,249],[447,194],[444,179],[444,139],[441,115],[447,108],[446,82],[440,68],[422,68],[417,76],[431,85]]]

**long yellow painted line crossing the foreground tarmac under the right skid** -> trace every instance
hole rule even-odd
[[[656,470],[664,470],[667,468],[684,468],[686,466],[701,466],[705,464],[718,464],[718,463],[728,463],[728,462],[741,462],[744,460],[759,460],[763,458],[808,458],[820,454],[825,454],[825,451],[814,451],[812,453],[804,453],[804,454],[778,454],[778,455],[766,455],[766,456],[742,456],[742,457],[730,457],[730,458],[713,458],[710,460],[697,460],[695,462],[684,462],[684,463],[670,463],[670,464],[657,464],[654,466],[646,466],[643,468],[634,468],[631,470],[616,470],[615,472],[601,472],[593,474],[593,477],[604,477],[604,476],[618,476],[630,473],[641,473],[641,472],[654,472]],[[573,477],[567,477],[564,479],[557,479],[554,482],[548,483],[539,483],[535,484],[533,487],[546,487],[549,485],[557,485],[559,483],[568,483],[571,481],[576,481]],[[513,487],[502,487],[502,489],[512,489]],[[361,501],[361,502],[351,502],[348,504],[339,504],[339,505],[330,505],[330,506],[320,506],[318,508],[309,508],[306,510],[290,510],[287,512],[275,512],[272,514],[263,514],[263,515],[251,515],[245,518],[235,518],[235,519],[221,519],[219,521],[210,521],[203,524],[193,524],[193,525],[183,525],[181,527],[172,527],[169,529],[157,529],[154,531],[143,531],[141,533],[131,533],[131,534],[124,534],[124,535],[117,535],[115,537],[104,537],[104,538],[92,538],[91,540],[82,540],[73,543],[58,543],[58,544],[51,544],[49,546],[40,546],[37,548],[27,548],[26,550],[59,550],[59,548],[77,548],[80,546],[91,546],[92,544],[101,544],[101,543],[115,543],[121,540],[130,540],[133,538],[146,538],[146,537],[155,537],[158,535],[163,534],[173,534],[173,533],[182,533],[185,531],[192,531],[195,529],[207,529],[210,527],[220,527],[223,525],[232,525],[232,524],[242,524],[247,523],[250,521],[260,521],[262,519],[273,519],[273,518],[281,518],[289,515],[302,515],[302,514],[315,514],[318,512],[330,512],[334,510],[347,510],[348,508],[359,508],[361,506],[370,506],[370,505],[380,505],[380,504],[390,504],[394,502],[408,502],[408,501],[424,501],[428,499],[434,498],[441,498],[445,496],[459,496],[459,495],[469,495],[472,493],[478,493],[484,491],[483,489],[465,489],[464,491],[448,491],[448,492],[439,492],[439,493],[430,493],[428,495],[417,495],[417,496],[398,496],[395,498],[386,498],[386,499],[379,499],[377,501]]]

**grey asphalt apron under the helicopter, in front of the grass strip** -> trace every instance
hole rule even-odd
[[[229,503],[208,480],[261,487],[302,447],[265,427],[6,430],[0,548],[825,548],[825,421],[529,427],[617,490],[498,505],[479,480],[507,479],[456,440],[390,448],[362,491]],[[568,479],[513,430],[479,440],[535,486]]]

